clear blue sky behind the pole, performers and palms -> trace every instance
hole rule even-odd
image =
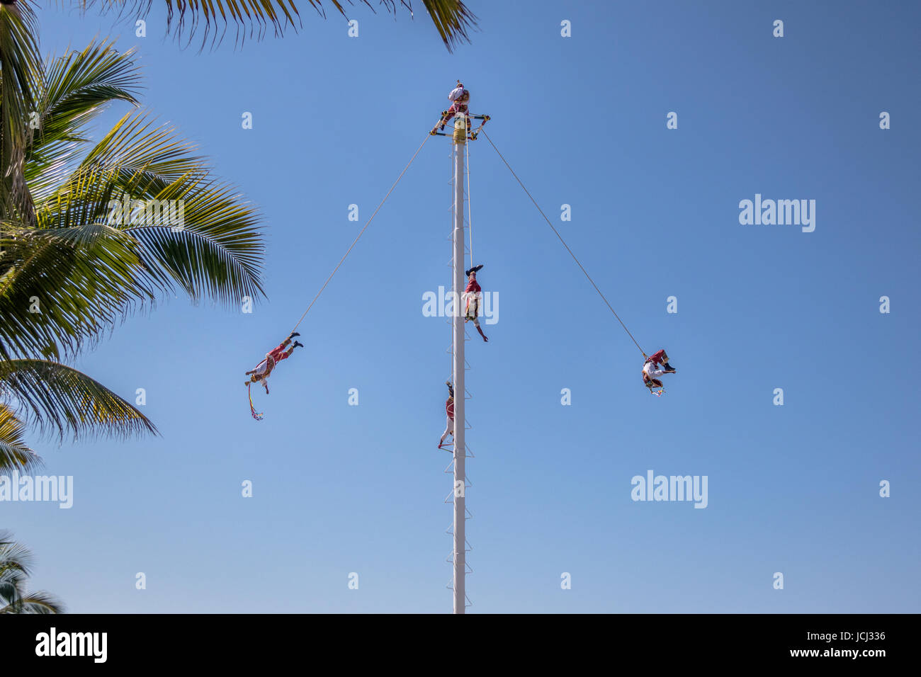
[[[921,611],[917,7],[470,6],[481,30],[454,54],[421,6],[414,20],[356,7],[358,38],[302,8],[298,34],[211,53],[163,40],[157,15],[137,39],[111,18],[41,12],[45,53],[105,35],[138,46],[146,105],[260,206],[269,299],[251,314],[169,299],[76,360],[128,399],[145,388],[161,436],[29,440],[43,473],[75,484],[68,510],[0,508],[38,558],[32,585],[87,613],[450,611],[436,449],[449,326],[422,313],[450,284],[447,139],[426,144],[301,324],[306,348],[257,396],[262,422],[243,372],[290,331],[462,78],[644,350],[678,368],[650,397],[635,345],[474,143],[474,253],[500,303],[490,343],[468,343],[469,611]],[[814,199],[814,232],[740,225],[755,193]],[[706,475],[707,507],[633,501],[648,470]]]

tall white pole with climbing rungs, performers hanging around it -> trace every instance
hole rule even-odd
[[[453,330],[453,374],[454,374],[454,613],[464,613],[467,606],[466,578],[466,506],[464,487],[464,459],[467,445],[464,442],[464,311],[461,294],[467,286],[464,274],[463,233],[463,151],[467,142],[467,121],[463,115],[454,119],[454,317]]]

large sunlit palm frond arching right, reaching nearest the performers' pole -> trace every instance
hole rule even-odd
[[[210,295],[227,304],[239,303],[244,296],[264,296],[259,280],[264,251],[260,216],[233,186],[211,176],[195,150],[172,127],[154,127],[146,113],[126,115],[55,196],[57,216],[47,220],[65,227],[98,218],[112,199],[146,202],[139,225],[122,213],[116,228],[145,245],[140,255],[157,284],[169,286],[168,280],[174,281],[195,300]],[[84,180],[87,171],[96,173]],[[106,172],[108,176],[101,176]],[[96,204],[95,215],[84,211],[76,221],[63,220],[58,205],[64,196],[74,204]],[[156,211],[160,204],[169,204],[174,215],[181,208],[181,228],[159,219],[150,222],[151,208]]]

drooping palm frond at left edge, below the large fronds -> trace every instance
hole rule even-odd
[[[24,412],[27,424],[41,434],[65,433],[83,437],[118,437],[157,428],[132,404],[90,379],[57,362],[39,359],[0,360],[0,394]],[[21,414],[20,414],[21,415]]]

